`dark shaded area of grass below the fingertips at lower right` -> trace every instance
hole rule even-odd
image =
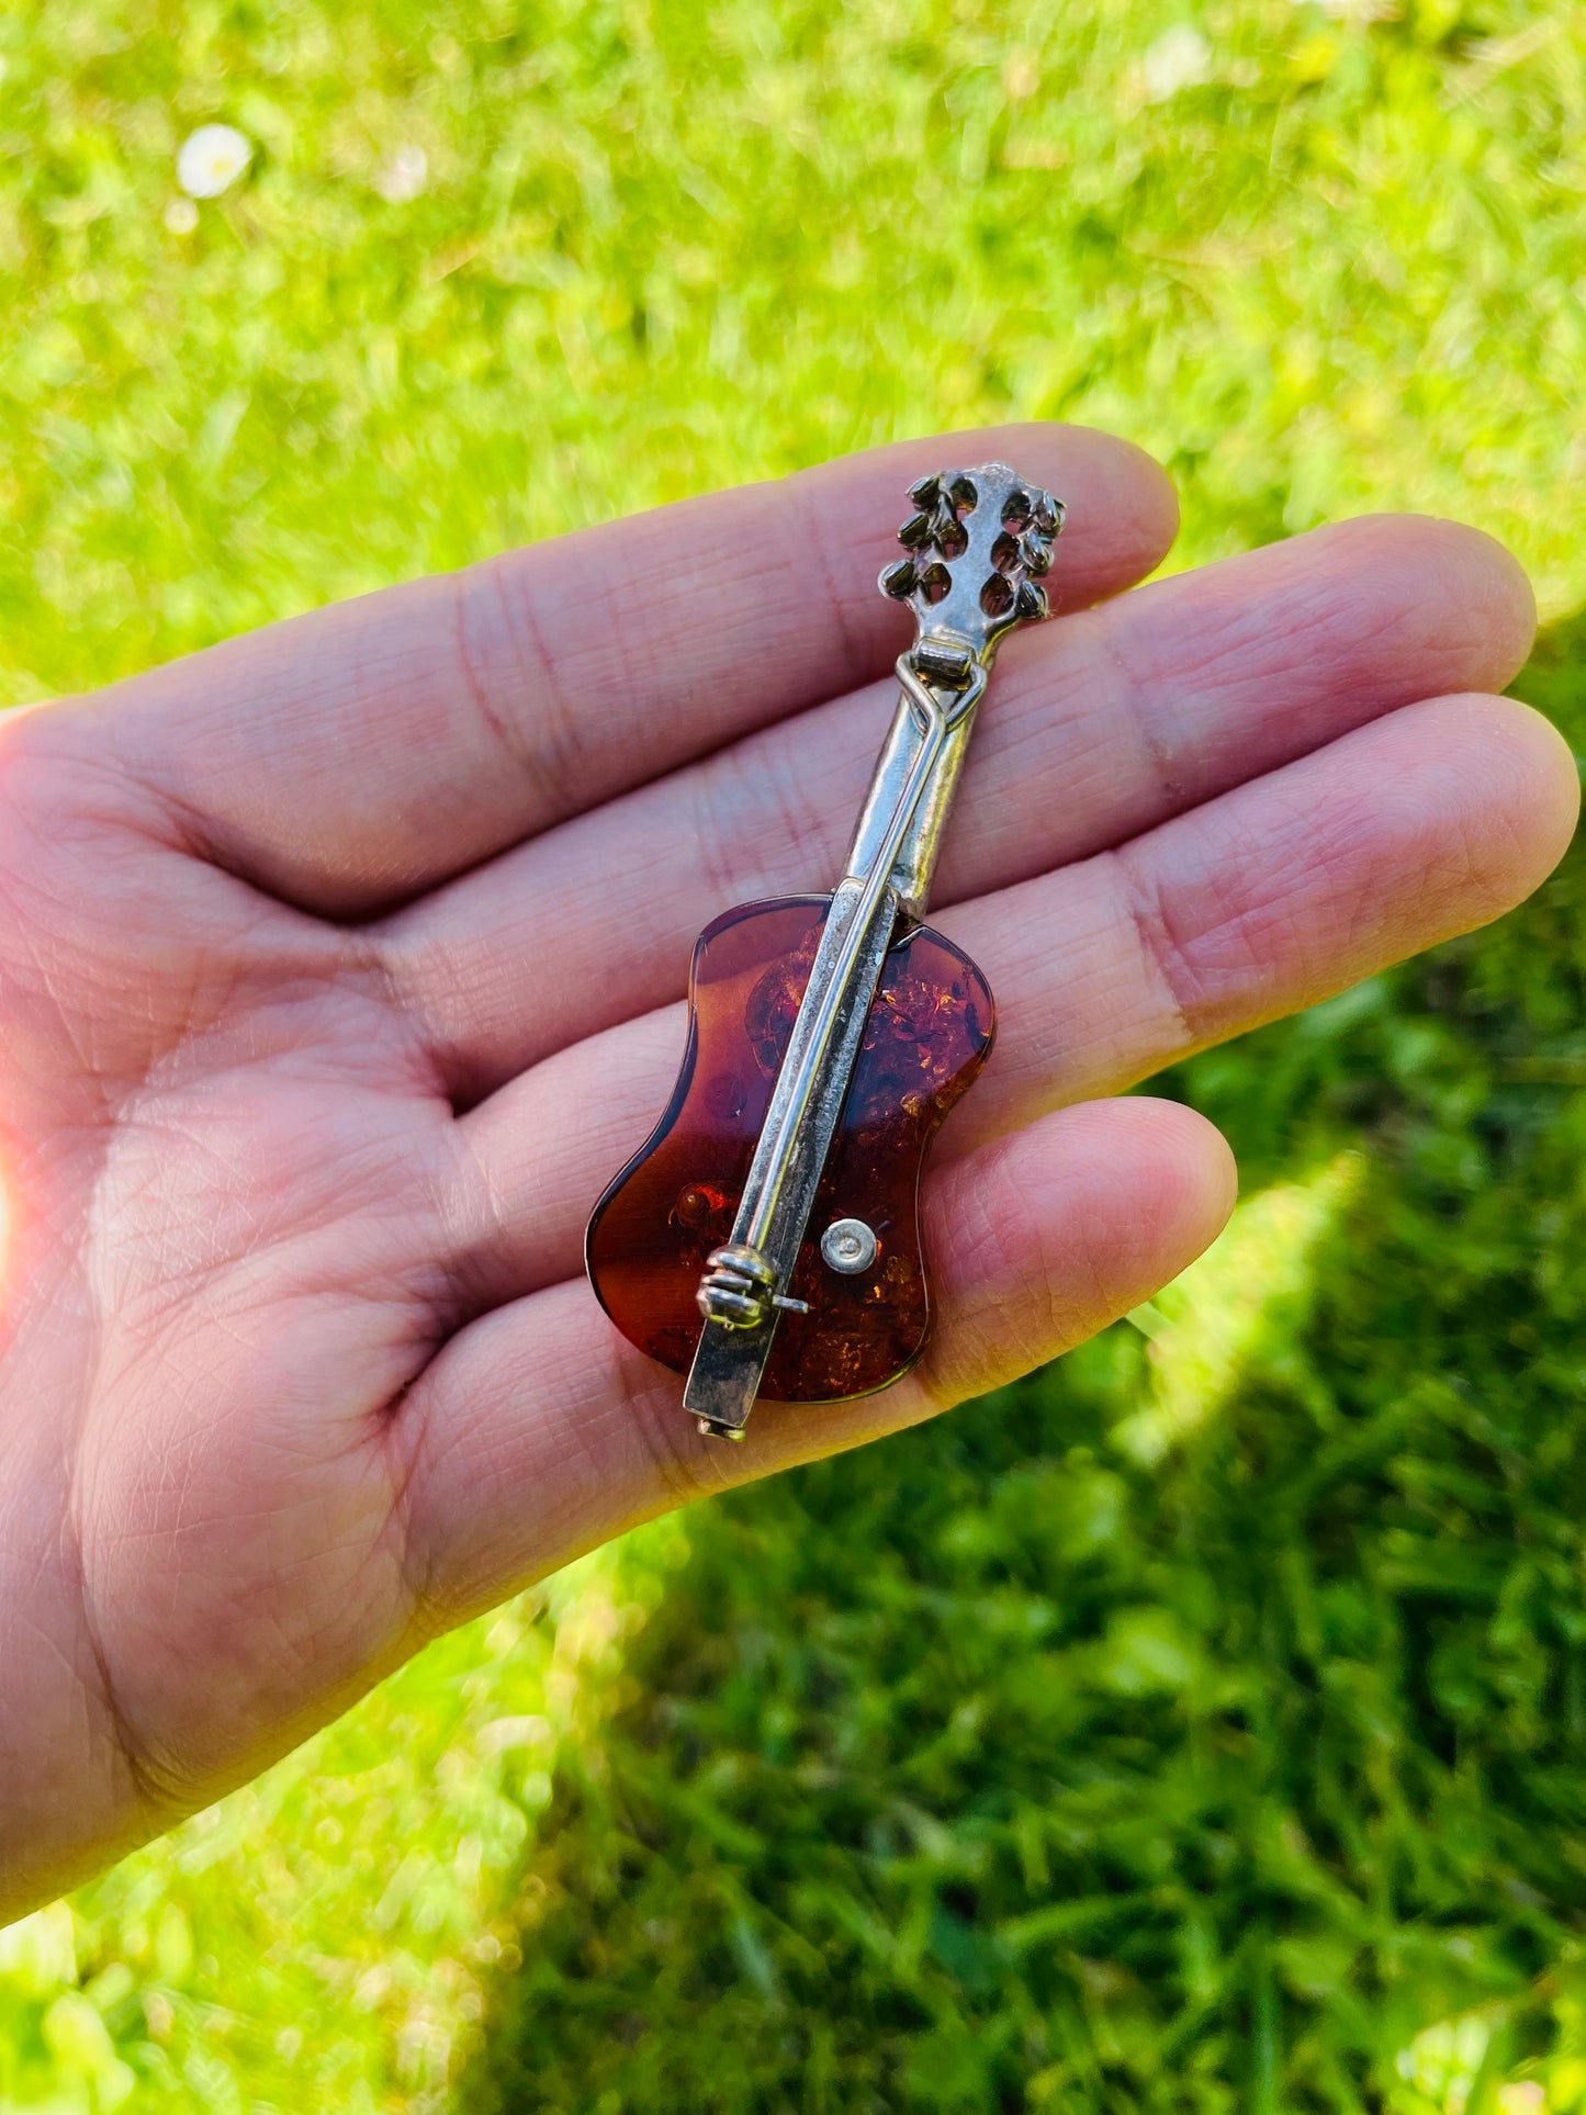
[[[1586,622],[1516,692],[1580,749]],[[1127,1436],[1163,1354],[1121,1324],[694,1514],[558,1787],[472,2115],[1480,2115],[1563,2075],[1584,899],[1571,854],[1491,933],[1172,1077],[1248,1189],[1360,1161],[1305,1301],[1159,1461]]]

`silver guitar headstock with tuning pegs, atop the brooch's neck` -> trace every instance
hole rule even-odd
[[[905,556],[882,573],[882,592],[914,609],[922,673],[964,664],[964,654],[988,668],[1015,624],[1047,615],[1040,582],[1064,503],[1007,463],[941,470],[909,499],[916,512],[897,533]]]

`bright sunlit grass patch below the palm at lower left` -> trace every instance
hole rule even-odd
[[[586,1559],[258,1783],[0,1931],[0,2109],[438,2109],[518,1958],[524,1842],[658,1567]]]

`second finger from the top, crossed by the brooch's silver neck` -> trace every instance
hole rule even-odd
[[[1383,516],[1140,588],[1015,641],[937,903],[1083,859],[1349,728],[1497,689],[1535,607],[1491,537]],[[827,888],[895,685],[763,730],[501,854],[381,933],[459,1100],[677,998],[730,903]]]

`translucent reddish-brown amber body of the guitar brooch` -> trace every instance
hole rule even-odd
[[[590,1280],[624,1337],[687,1373],[704,1322],[706,1256],[732,1239],[827,897],[744,903],[713,920],[689,973],[689,1038],[666,1112],[594,1208]],[[930,926],[888,950],[865,1043],[827,1155],[808,1237],[761,1396],[831,1402],[886,1387],[930,1332],[918,1191],[930,1140],[985,1064],[994,1007],[985,979]],[[875,1233],[873,1265],[831,1269],[820,1235],[837,1218]]]

